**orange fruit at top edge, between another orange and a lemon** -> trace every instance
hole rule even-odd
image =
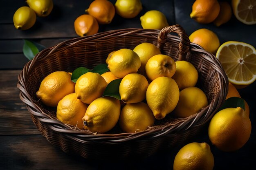
[[[94,16],[99,24],[109,24],[115,16],[115,7],[108,0],[94,0],[85,12]]]

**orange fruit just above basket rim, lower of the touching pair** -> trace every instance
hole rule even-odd
[[[91,15],[81,15],[74,22],[76,34],[80,37],[96,34],[99,30],[97,20]]]

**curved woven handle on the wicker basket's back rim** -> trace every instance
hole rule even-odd
[[[186,31],[179,24],[164,27],[157,37],[157,47],[162,49],[167,40],[168,33],[177,33],[180,36],[178,60],[184,60],[186,53],[189,52],[190,40]]]

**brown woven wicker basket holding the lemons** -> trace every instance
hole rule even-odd
[[[178,36],[170,33],[177,33]],[[47,108],[36,98],[40,82],[54,71],[72,72],[85,66],[93,68],[105,63],[108,53],[121,48],[133,49],[150,42],[174,60],[191,62],[198,70],[196,86],[206,93],[209,105],[188,118],[166,116],[155,126],[137,133],[94,134],[74,130],[56,120],[56,110]],[[18,76],[20,99],[26,104],[32,120],[42,135],[64,152],[90,159],[146,157],[159,150],[170,150],[176,144],[195,135],[225,101],[228,79],[220,62],[197,44],[190,43],[180,25],[161,31],[151,29],[121,29],[74,38],[45,49],[28,62]],[[171,114],[168,114],[171,115]]]

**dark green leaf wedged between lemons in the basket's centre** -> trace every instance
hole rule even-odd
[[[121,100],[120,94],[119,94],[119,85],[121,83],[121,79],[115,79],[111,81],[108,86],[106,87],[103,97],[104,96],[111,96],[115,97],[116,99]]]

